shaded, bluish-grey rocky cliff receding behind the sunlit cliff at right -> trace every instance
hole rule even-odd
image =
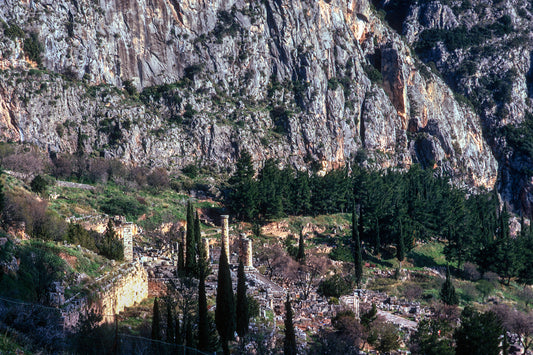
[[[419,57],[470,101],[500,165],[499,190],[516,210],[533,215],[530,132],[509,139],[533,112],[533,6],[527,1],[376,2]],[[394,20],[393,20],[394,19]]]

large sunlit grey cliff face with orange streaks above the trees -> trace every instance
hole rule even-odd
[[[248,150],[327,170],[364,150],[496,180],[479,117],[365,0],[7,0],[0,18],[4,140],[170,168]]]

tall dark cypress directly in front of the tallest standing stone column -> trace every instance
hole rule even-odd
[[[217,331],[220,335],[224,354],[229,354],[228,342],[233,340],[233,333],[235,332],[235,300],[233,297],[228,258],[224,252],[224,243],[222,243],[218,263],[216,304],[215,323]]]

